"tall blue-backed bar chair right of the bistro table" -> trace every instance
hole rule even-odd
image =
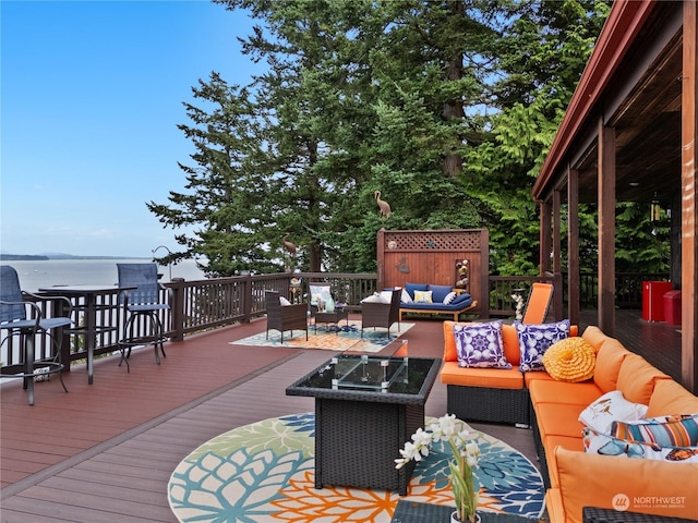
[[[166,288],[158,282],[157,264],[117,264],[117,270],[119,287],[134,288],[119,294],[119,303],[128,314],[123,325],[123,336],[119,340],[121,350],[119,366],[125,361],[127,368],[131,372],[129,365],[131,349],[148,344],[153,344],[155,362],[159,365],[159,352],[163,353],[163,357],[167,357],[164,346],[167,338],[160,314],[169,311],[170,306],[160,302],[160,291]],[[136,336],[136,325],[140,336]],[[149,327],[149,331],[146,327]]]

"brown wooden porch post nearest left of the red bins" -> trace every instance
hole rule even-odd
[[[599,327],[615,336],[615,129],[599,119]]]

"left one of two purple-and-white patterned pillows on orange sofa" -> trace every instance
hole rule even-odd
[[[512,368],[504,355],[502,321],[454,325],[459,367]]]

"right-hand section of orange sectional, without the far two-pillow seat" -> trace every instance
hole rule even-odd
[[[647,405],[647,418],[696,414],[698,398],[598,327],[588,327],[582,338],[597,353],[591,380],[568,384],[546,373],[526,376],[541,467],[550,479],[545,506],[551,521],[581,522],[585,506],[698,519],[698,463],[585,452],[579,422],[591,402],[614,390]]]

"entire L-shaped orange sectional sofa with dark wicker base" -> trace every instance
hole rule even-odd
[[[447,385],[447,410],[467,421],[531,426],[552,523],[581,523],[585,507],[657,514],[654,521],[698,520],[698,463],[585,452],[579,421],[582,411],[612,391],[647,405],[646,418],[697,414],[696,396],[597,327],[581,336],[595,353],[593,378],[586,381],[557,381],[544,370],[521,373],[518,337],[507,325],[502,338],[510,369],[462,368],[454,325],[444,323],[441,380]]]

